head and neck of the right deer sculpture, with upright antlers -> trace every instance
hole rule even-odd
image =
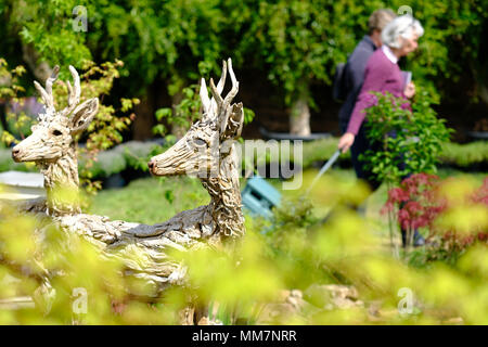
[[[222,98],[227,73],[232,88]],[[223,62],[217,87],[210,79],[210,91],[211,100],[202,78],[202,118],[174,146],[152,157],[147,166],[154,176],[197,176],[211,197],[208,208],[215,223],[214,233],[240,236],[244,233],[244,218],[233,141],[241,136],[244,111],[242,103],[231,104],[239,81],[230,59]]]

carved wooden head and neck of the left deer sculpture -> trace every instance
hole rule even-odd
[[[37,81],[34,82],[44,104],[44,113],[39,114],[38,124],[31,127],[31,134],[12,150],[15,162],[35,162],[44,175],[50,215],[80,211],[76,203],[79,184],[76,136],[88,128],[99,110],[97,98],[79,104],[79,75],[69,66],[74,85],[72,87],[69,81],[66,82],[67,106],[56,111],[52,86],[59,70],[60,67],[55,66],[46,81],[46,89]]]

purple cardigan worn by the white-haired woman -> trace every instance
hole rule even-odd
[[[398,64],[393,63],[377,49],[368,60],[362,85],[355,108],[347,126],[347,132],[358,134],[359,128],[365,117],[365,108],[374,105],[376,97],[371,91],[387,92],[399,98],[403,97],[403,80]]]

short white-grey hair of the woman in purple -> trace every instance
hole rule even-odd
[[[400,37],[410,39],[415,33],[421,37],[424,28],[418,20],[410,14],[396,17],[389,22],[382,31],[382,41],[390,48],[401,48]]]

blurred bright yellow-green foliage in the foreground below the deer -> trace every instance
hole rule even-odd
[[[468,245],[453,262],[431,258],[424,260],[427,267],[412,267],[407,259],[393,258],[383,236],[347,207],[364,194],[362,188],[333,176],[318,184],[310,200],[335,206],[329,220],[317,218],[310,202],[294,192],[287,196],[293,208],[277,211],[272,233],[279,237],[262,234],[262,224],[247,218],[247,234],[227,252],[200,248],[171,254],[188,267],[189,282],[169,288],[162,298],[144,297],[141,284],[124,277],[117,261],[101,258],[91,243],[2,205],[0,281],[8,284],[0,286],[0,297],[31,296],[35,307],[0,306],[0,322],[172,324],[189,303],[204,308],[213,303],[213,319],[227,324],[488,322],[486,310],[480,309],[488,304],[486,241]],[[466,208],[462,196],[477,188],[455,180],[450,184],[446,192],[452,208]],[[451,221],[439,222],[450,229],[467,226],[476,216],[470,226],[486,229],[486,208],[462,214],[462,220],[444,215]],[[44,271],[51,273],[50,286],[41,280]],[[338,298],[330,290],[332,284],[348,294]],[[88,294],[86,313],[74,311],[80,298],[76,288]],[[142,296],[128,294],[134,290]],[[403,307],[400,290],[413,294],[410,312],[399,311]]]

